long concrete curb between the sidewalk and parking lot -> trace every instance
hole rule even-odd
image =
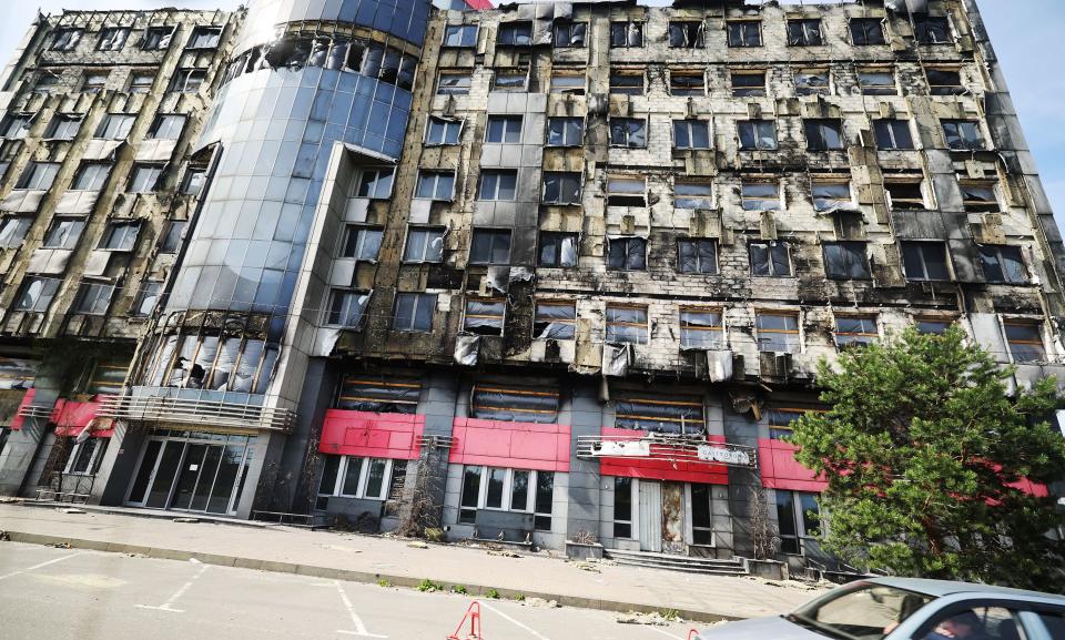
[[[12,542],[24,542],[29,545],[45,545],[70,547],[71,549],[89,549],[92,551],[108,551],[112,553],[135,553],[148,558],[160,558],[163,560],[199,560],[206,565],[219,565],[222,567],[237,567],[241,569],[257,569],[260,571],[272,571],[276,573],[295,573],[297,576],[308,576],[313,578],[325,578],[329,580],[344,580],[348,582],[364,582],[378,585],[382,581],[388,582],[393,587],[417,588],[422,583],[422,578],[412,578],[409,576],[392,576],[389,573],[371,573],[368,571],[356,571],[352,569],[335,569],[332,567],[318,567],[315,565],[296,565],[293,562],[277,562],[274,560],[261,560],[257,558],[243,558],[239,556],[220,556],[216,553],[201,553],[199,551],[183,551],[180,549],[163,549],[159,547],[144,547],[141,545],[123,545],[120,542],[105,542],[102,540],[85,540],[80,538],[67,538],[63,536],[44,536],[41,534],[26,534],[22,531],[3,531],[8,540]],[[517,589],[507,589],[503,587],[491,587],[490,585],[460,585],[448,580],[436,580],[427,578],[444,590],[450,590],[453,587],[465,587],[469,596],[485,597],[489,591],[496,591],[500,599],[513,600],[517,596],[526,598],[541,598],[544,600],[555,600],[565,607],[578,607],[581,609],[598,609],[600,611],[628,612],[638,611],[642,613],[662,612],[667,608],[651,607],[636,602],[622,602],[618,600],[602,600],[599,598],[581,598],[579,596],[562,596],[559,593],[541,593],[537,591],[519,591]],[[674,611],[677,616],[684,620],[699,622],[719,622],[722,620],[742,620],[737,616],[726,616],[721,613],[711,613],[709,611],[693,611],[690,609],[668,609]]]

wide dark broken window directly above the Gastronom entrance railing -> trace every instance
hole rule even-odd
[[[702,398],[699,396],[621,393],[613,400],[613,426],[619,429],[678,435],[706,433]]]

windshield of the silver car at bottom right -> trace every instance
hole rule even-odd
[[[833,591],[788,614],[788,620],[842,640],[883,640],[931,596],[884,585]]]

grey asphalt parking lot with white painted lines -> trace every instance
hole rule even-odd
[[[471,599],[120,553],[0,542],[2,640],[445,640]],[[691,624],[483,600],[484,640],[686,640]],[[459,636],[465,640],[465,636]]]

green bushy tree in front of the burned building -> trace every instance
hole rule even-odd
[[[1054,498],[1016,488],[1065,470],[1065,439],[1047,418],[1055,380],[1006,396],[1003,369],[965,344],[909,329],[822,362],[828,413],[807,414],[791,440],[824,474],[822,539],[841,558],[895,573],[1062,591],[1065,522]]]

